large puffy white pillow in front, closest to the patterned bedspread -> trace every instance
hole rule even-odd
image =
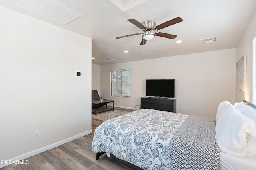
[[[256,154],[253,145],[256,142],[256,123],[228,101],[218,107],[215,132],[220,151],[241,157]]]

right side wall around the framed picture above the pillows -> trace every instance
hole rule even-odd
[[[256,37],[256,12],[246,31],[244,31],[237,47],[236,62],[246,54],[246,92],[236,90],[236,102],[247,100],[252,102],[252,40]]]

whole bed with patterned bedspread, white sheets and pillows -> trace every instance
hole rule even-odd
[[[244,102],[243,105],[246,106]],[[228,125],[223,122],[225,117],[230,117],[230,112],[238,112],[238,109],[228,101],[220,103],[216,118],[152,109],[134,111],[98,126],[94,131],[92,152],[96,153],[96,159],[106,152],[107,156],[112,154],[145,170],[256,169],[254,151],[244,151],[248,150],[247,143],[247,148],[241,149],[239,145],[238,151],[232,147],[230,150],[223,149],[232,142],[238,142],[226,142],[228,131],[222,129]],[[255,125],[255,134],[253,130],[244,132],[246,140],[252,139],[250,146],[256,138],[256,124],[253,122],[250,119],[252,126],[248,128],[252,129]]]

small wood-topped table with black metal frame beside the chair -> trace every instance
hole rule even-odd
[[[113,103],[113,106],[110,103]],[[104,105],[105,107],[99,107]],[[92,107],[95,107],[95,109],[92,109],[92,113],[95,113],[95,115],[103,111],[114,110],[114,100],[103,100],[103,102],[100,102],[100,100],[95,100],[92,101]]]

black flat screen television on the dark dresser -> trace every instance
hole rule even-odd
[[[174,98],[175,79],[146,80],[146,96]]]

